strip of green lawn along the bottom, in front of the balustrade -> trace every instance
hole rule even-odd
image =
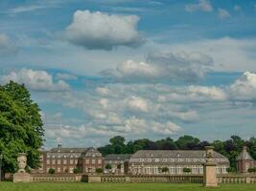
[[[12,183],[0,182],[0,191],[256,191],[256,184],[222,184],[203,188],[201,184],[168,183]]]

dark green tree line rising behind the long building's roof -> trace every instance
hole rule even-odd
[[[233,168],[236,168],[236,159],[244,145],[247,146],[251,157],[256,159],[256,138],[244,140],[238,136],[211,142],[192,136],[183,136],[176,140],[173,138],[159,140],[142,138],[126,142],[125,138],[116,136],[110,138],[109,144],[99,147],[98,150],[105,156],[107,154],[133,154],[138,150],[203,150],[205,146],[209,145],[214,146],[215,151],[229,159],[230,166]]]

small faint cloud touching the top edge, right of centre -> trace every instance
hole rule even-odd
[[[198,3],[185,5],[185,10],[194,11],[213,11],[213,7],[209,0],[198,0]]]

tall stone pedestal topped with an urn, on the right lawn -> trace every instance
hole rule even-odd
[[[203,186],[218,187],[218,180],[216,175],[217,163],[213,161],[214,147],[207,146],[206,162],[203,163]]]

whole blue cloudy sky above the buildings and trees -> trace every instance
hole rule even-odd
[[[45,148],[256,136],[256,0],[2,0],[0,84]]]

